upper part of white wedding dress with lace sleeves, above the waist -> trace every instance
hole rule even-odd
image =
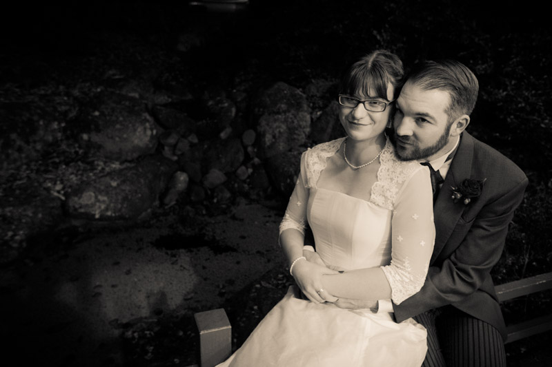
[[[280,233],[304,233],[308,220],[316,251],[326,264],[349,270],[381,266],[398,304],[422,288],[433,251],[428,169],[416,161],[399,160],[387,140],[369,201],[317,187],[326,160],[343,141],[332,140],[303,153]]]

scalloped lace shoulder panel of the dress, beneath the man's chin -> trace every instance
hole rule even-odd
[[[372,187],[370,201],[375,205],[393,210],[395,200],[404,186],[418,169],[424,167],[417,160],[400,160],[395,154],[395,148],[387,139],[382,155],[380,169],[377,170],[377,182]]]

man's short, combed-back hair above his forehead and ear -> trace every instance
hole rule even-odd
[[[425,61],[415,67],[406,78],[422,90],[445,90],[451,96],[446,109],[449,122],[469,115],[475,107],[479,83],[466,65],[454,60]]]

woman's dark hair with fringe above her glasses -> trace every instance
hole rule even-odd
[[[372,91],[375,96],[387,99],[387,86],[391,83],[395,87],[395,99],[400,93],[403,78],[404,68],[399,56],[386,50],[375,50],[351,66],[342,80],[339,94],[370,96]]]

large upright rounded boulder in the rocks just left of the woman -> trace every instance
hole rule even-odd
[[[276,83],[255,103],[259,153],[262,158],[303,145],[311,129],[310,107],[295,87]]]

